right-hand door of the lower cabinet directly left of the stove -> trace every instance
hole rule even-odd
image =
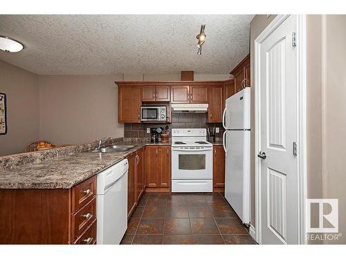
[[[171,155],[170,146],[158,148],[159,187],[170,187],[171,182]]]

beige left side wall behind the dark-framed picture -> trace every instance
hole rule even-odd
[[[0,93],[6,93],[8,119],[8,133],[0,135],[0,155],[23,152],[39,138],[38,76],[0,61]]]

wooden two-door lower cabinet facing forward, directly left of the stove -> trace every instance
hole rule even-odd
[[[170,146],[147,146],[145,150],[145,186],[147,188],[170,188]]]

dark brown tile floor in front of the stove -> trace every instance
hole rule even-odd
[[[221,193],[145,193],[121,244],[255,244]]]

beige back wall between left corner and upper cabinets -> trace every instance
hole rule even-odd
[[[39,136],[54,144],[122,137],[114,75],[39,76]]]

